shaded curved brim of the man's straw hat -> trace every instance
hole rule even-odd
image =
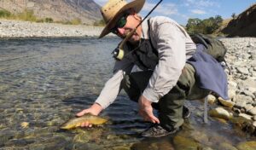
[[[106,36],[110,30],[113,28],[113,25],[116,24],[116,21],[119,19],[119,15],[124,12],[127,9],[134,9],[136,13],[140,12],[141,9],[143,9],[145,0],[134,0],[131,3],[125,4],[125,6],[122,9],[119,9],[119,11],[113,16],[111,20],[108,21],[107,25],[102,30],[102,33],[100,34],[99,38],[103,38]]]

